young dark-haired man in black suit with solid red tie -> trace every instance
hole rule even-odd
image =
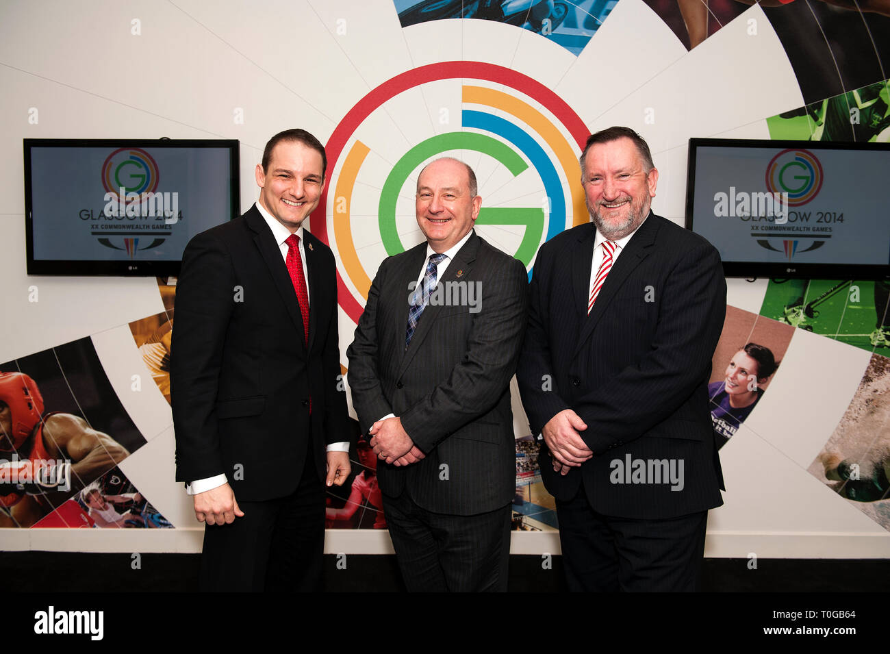
[[[182,255],[170,382],[176,480],[206,521],[202,590],[320,582],[324,483],[350,472],[334,255],[303,230],[326,163],[311,133],[276,134],[255,206]]]

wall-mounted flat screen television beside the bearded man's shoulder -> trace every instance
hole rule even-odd
[[[686,227],[727,277],[890,276],[890,144],[690,139]]]

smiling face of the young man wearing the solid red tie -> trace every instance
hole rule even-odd
[[[325,184],[320,153],[300,141],[281,141],[272,150],[269,169],[256,166],[260,204],[291,233],[319,206]]]

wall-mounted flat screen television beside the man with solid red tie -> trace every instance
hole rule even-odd
[[[239,141],[25,139],[28,275],[178,275],[239,214]]]

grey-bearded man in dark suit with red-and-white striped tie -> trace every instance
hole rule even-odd
[[[716,249],[650,211],[627,127],[581,156],[592,223],[538,252],[517,380],[571,590],[693,590],[723,504],[708,410],[726,283]]]

